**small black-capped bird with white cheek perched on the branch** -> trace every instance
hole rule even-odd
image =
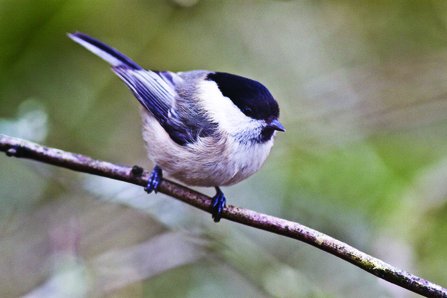
[[[226,205],[219,187],[257,172],[275,132],[285,131],[267,88],[223,72],[144,70],[88,35],[68,36],[109,62],[141,103],[143,137],[156,165],[145,190],[157,190],[162,170],[191,186],[213,186],[211,213],[218,222]]]

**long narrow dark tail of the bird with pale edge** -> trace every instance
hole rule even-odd
[[[75,42],[79,43],[89,51],[95,53],[105,61],[112,64],[112,66],[121,66],[125,65],[130,69],[134,70],[142,70],[138,64],[118,52],[112,47],[109,47],[105,43],[94,39],[91,36],[88,36],[87,34],[81,33],[81,32],[75,32],[73,34],[68,33],[68,37],[73,39]]]

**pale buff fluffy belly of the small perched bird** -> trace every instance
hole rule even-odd
[[[143,120],[143,138],[149,158],[164,174],[191,186],[229,186],[254,173],[264,164],[273,141],[238,144],[203,138],[197,144],[181,146],[150,115]]]

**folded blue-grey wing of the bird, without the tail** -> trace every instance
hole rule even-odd
[[[175,88],[183,80],[171,72],[154,72],[115,66],[112,70],[126,83],[138,101],[157,119],[171,139],[179,145],[187,145],[203,136],[206,130],[194,115],[193,106],[174,105],[179,99]],[[185,109],[186,108],[186,109]],[[192,119],[191,119],[192,117]]]

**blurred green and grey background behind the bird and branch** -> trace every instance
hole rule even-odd
[[[139,104],[79,30],[154,70],[256,79],[281,107],[229,204],[447,286],[447,2],[0,0],[0,133],[151,169]],[[212,189],[200,189],[212,195]],[[415,297],[304,243],[0,155],[0,296]]]

